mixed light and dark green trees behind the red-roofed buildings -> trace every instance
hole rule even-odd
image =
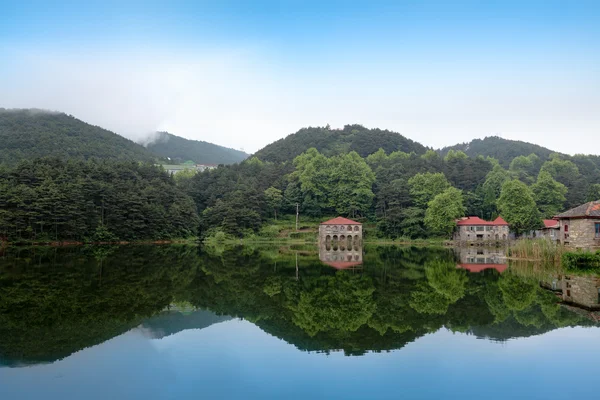
[[[381,236],[448,236],[456,218],[498,215],[517,233],[538,229],[542,218],[600,198],[600,166],[584,156],[515,157],[508,168],[494,158],[445,157],[380,149],[326,156],[317,149],[293,162],[253,157],[191,177],[185,190],[201,215],[203,235],[222,230],[243,236],[266,219],[295,213],[343,215],[377,224]]]

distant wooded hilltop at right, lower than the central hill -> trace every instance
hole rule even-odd
[[[473,139],[469,143],[460,143],[450,147],[444,147],[439,152],[446,156],[450,150],[462,151],[469,157],[492,157],[498,160],[500,165],[508,168],[515,157],[530,154],[537,155],[541,160],[547,160],[552,153],[558,153],[537,144],[521,142],[519,140],[508,140],[498,136],[489,136],[484,139]]]

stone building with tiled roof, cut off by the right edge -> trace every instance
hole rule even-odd
[[[554,219],[559,221],[559,239],[566,246],[600,247],[600,200],[575,207]]]

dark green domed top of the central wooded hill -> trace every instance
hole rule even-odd
[[[303,128],[259,150],[255,156],[262,161],[291,161],[311,147],[321,154],[332,156],[356,151],[361,157],[380,148],[387,154],[394,151],[423,154],[427,148],[396,132],[367,129],[361,125],[346,125],[344,129]]]

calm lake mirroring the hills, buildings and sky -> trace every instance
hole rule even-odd
[[[0,398],[597,398],[599,282],[477,250],[9,249]]]

